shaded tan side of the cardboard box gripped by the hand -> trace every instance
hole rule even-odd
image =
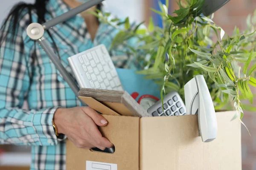
[[[86,170],[86,161],[117,164],[118,170],[139,170],[139,117],[103,116],[108,125],[99,129],[115,145],[115,153],[78,149],[67,140],[67,170]]]

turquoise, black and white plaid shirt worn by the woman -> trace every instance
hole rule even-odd
[[[62,0],[49,0],[45,18],[50,20],[68,10]],[[32,11],[32,22],[37,22],[35,11]],[[56,138],[52,118],[57,108],[76,107],[80,103],[38,42],[26,35],[29,23],[28,11],[23,11],[16,33],[7,34],[0,47],[0,144],[31,145],[31,170],[65,170],[65,141]],[[0,34],[6,35],[6,31]],[[67,58],[99,44],[109,49],[118,30],[100,23],[92,42],[79,14],[49,32],[57,44],[62,64],[73,76]],[[44,37],[53,47],[47,32]],[[131,40],[128,44],[136,43]],[[119,50],[126,49],[120,46]],[[119,50],[109,52],[111,56],[122,55]],[[134,67],[132,58],[112,59],[116,67]],[[25,100],[28,110],[22,109]]]

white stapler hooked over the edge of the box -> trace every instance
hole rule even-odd
[[[195,76],[184,86],[186,114],[198,116],[198,130],[203,142],[217,137],[217,119],[212,98],[203,75]]]

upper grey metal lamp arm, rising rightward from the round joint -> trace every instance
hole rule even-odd
[[[64,14],[61,14],[58,17],[53,18],[52,20],[47,21],[46,23],[42,24],[42,26],[44,27],[45,30],[47,30],[59,23],[62,23],[64,21],[76,16],[77,14],[81,13],[82,11],[85,11],[93,6],[98,5],[102,1],[104,1],[104,0],[90,0],[76,8],[71,9],[70,11],[67,11]]]

